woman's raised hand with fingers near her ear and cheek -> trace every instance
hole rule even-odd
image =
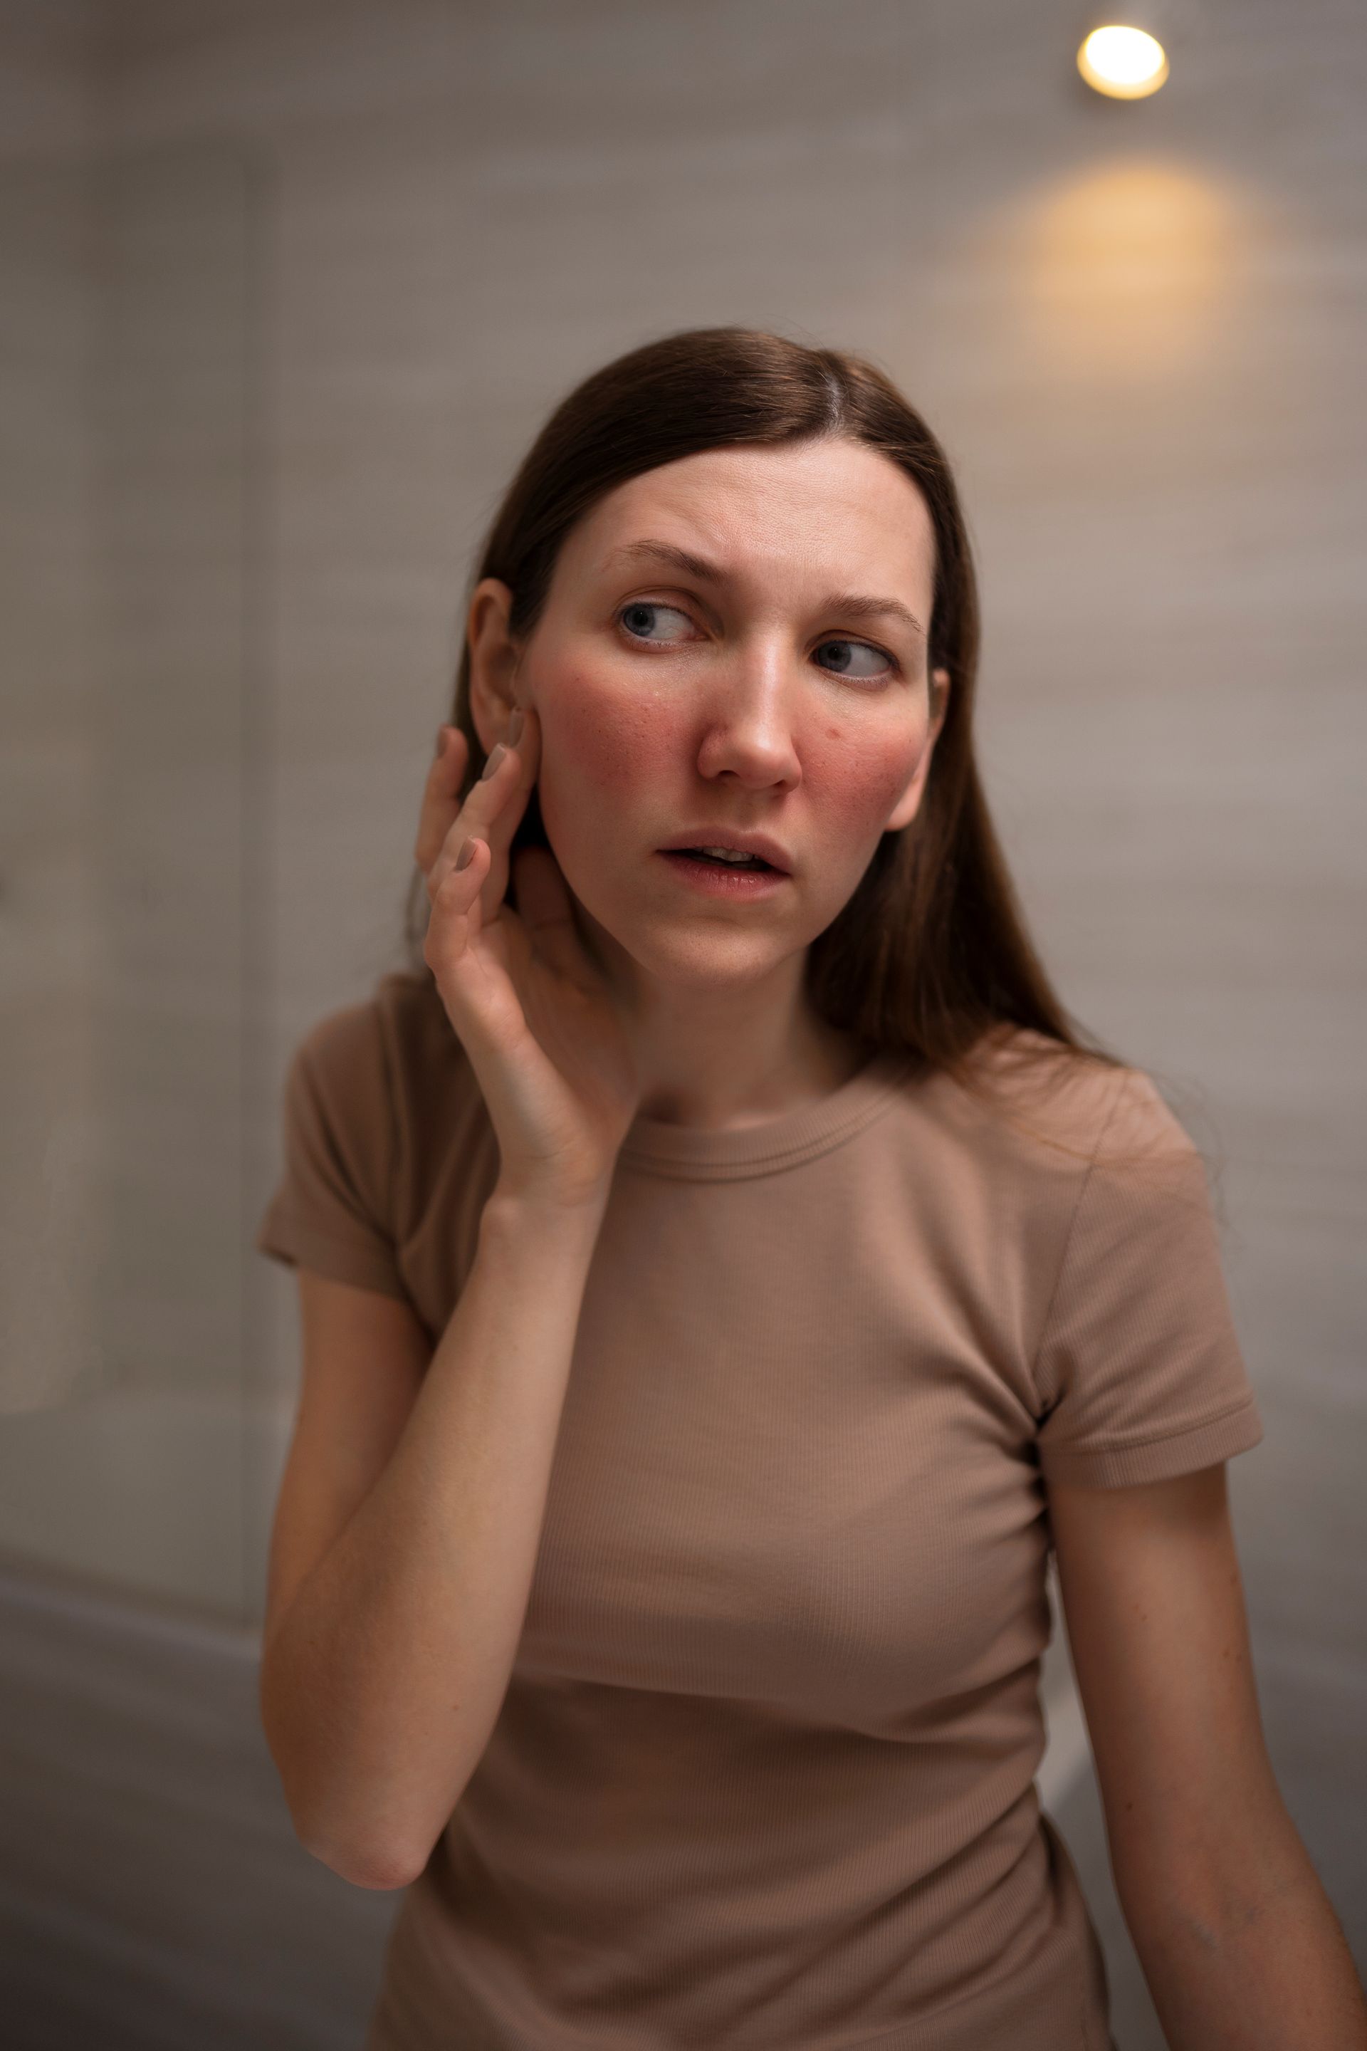
[[[603,1202],[639,1103],[621,1013],[578,937],[549,849],[519,849],[519,909],[504,900],[541,722],[525,710],[516,747],[492,751],[492,775],[486,767],[463,804],[465,734],[445,726],[443,740],[414,849],[432,907],[422,958],[494,1122],[498,1188],[547,1204]]]

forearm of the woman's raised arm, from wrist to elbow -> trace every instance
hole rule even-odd
[[[404,1436],[262,1661],[299,1838],[359,1885],[420,1868],[498,1719],[598,1222],[490,1200]]]

